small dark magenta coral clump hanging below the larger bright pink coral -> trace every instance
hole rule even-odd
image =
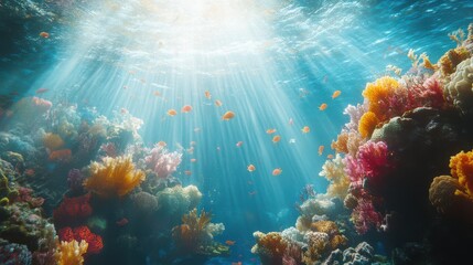
[[[366,198],[359,199],[352,212],[352,220],[358,234],[365,234],[370,227],[379,227],[381,214],[376,212],[373,201]]]

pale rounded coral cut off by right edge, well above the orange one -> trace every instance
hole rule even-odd
[[[473,60],[466,59],[456,66],[452,80],[444,87],[447,100],[463,114],[473,114]]]

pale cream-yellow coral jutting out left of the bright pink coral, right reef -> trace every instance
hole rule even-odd
[[[337,197],[342,201],[345,199],[348,193],[350,178],[340,153],[336,153],[334,159],[325,161],[319,176],[325,177],[331,182],[326,189],[329,195]]]

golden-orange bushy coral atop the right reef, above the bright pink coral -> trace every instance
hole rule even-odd
[[[390,98],[396,95],[399,87],[400,84],[397,80],[390,76],[384,76],[374,83],[366,84],[363,96],[368,100],[368,110],[373,112],[380,121],[393,117],[390,113],[396,112],[396,109],[393,109]]]

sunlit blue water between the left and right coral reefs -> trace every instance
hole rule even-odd
[[[0,10],[8,4],[18,3]],[[259,264],[252,232],[294,225],[305,184],[325,192],[319,172],[348,120],[343,109],[363,102],[365,84],[387,65],[407,72],[409,49],[437,62],[455,46],[448,33],[473,22],[472,1],[23,4],[25,13],[0,17],[0,92],[18,93],[15,100],[46,87],[41,96],[53,103],[108,117],[123,108],[144,121],[139,132],[147,146],[184,148],[175,177],[197,186],[200,208],[225,224],[217,240],[236,242],[230,257],[207,264]],[[39,38],[41,31],[50,38]],[[334,91],[342,91],[336,99]],[[319,110],[322,103],[326,110]],[[193,110],[181,114],[184,105]],[[171,108],[175,117],[166,115]],[[222,120],[226,110],[236,117]],[[311,131],[302,134],[303,126]],[[271,141],[270,128],[280,142]],[[193,153],[185,151],[191,141]],[[275,168],[282,173],[273,177]]]

